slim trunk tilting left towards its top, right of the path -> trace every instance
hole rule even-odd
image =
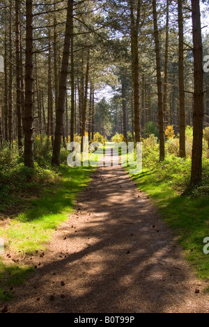
[[[156,0],[153,0],[153,21],[154,21],[155,52],[156,52],[156,63],[157,63],[157,96],[158,96],[158,115],[159,115],[159,127],[160,127],[160,160],[163,161],[165,157],[164,112],[163,112],[163,96],[162,96],[160,41],[159,41],[159,32],[157,27]]]

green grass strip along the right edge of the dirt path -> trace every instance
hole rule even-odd
[[[167,177],[160,175],[155,168],[146,168],[141,175],[133,175],[132,179],[141,191],[150,196],[164,220],[178,235],[186,258],[199,279],[209,282],[209,254],[203,253],[203,239],[209,237],[208,195],[196,198],[180,195],[169,186]],[[209,292],[209,287],[206,291]]]

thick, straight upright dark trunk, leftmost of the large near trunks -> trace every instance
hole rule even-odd
[[[34,168],[33,161],[33,0],[26,0],[24,165]]]

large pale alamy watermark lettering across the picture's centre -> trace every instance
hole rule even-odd
[[[98,166],[121,166],[128,167],[130,175],[140,174],[142,171],[142,143],[121,142],[102,143],[93,142],[89,145],[84,137],[83,151],[77,142],[68,144],[68,166],[70,167],[98,167]],[[120,155],[119,155],[120,153]]]

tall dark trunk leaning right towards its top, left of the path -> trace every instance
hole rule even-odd
[[[53,147],[52,164],[60,166],[61,138],[63,133],[63,117],[65,112],[65,96],[67,89],[68,66],[70,58],[70,40],[72,38],[73,0],[68,0],[68,13],[65,27],[65,43],[61,75],[59,81],[59,99],[56,107],[56,129]]]

